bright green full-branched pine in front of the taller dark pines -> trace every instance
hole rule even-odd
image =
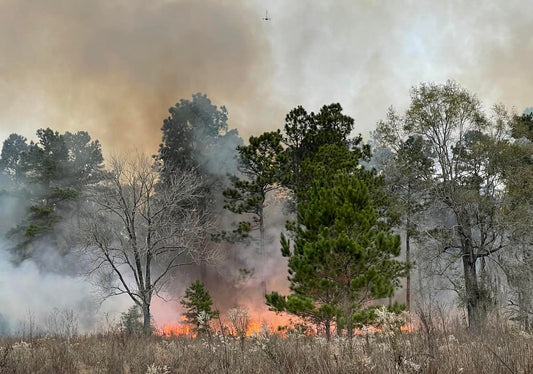
[[[369,316],[369,302],[392,296],[408,269],[394,259],[400,238],[374,205],[360,176],[340,171],[329,181],[314,181],[298,204],[296,222],[287,226],[292,242],[281,237],[292,293],[269,294],[267,304],[321,326],[328,339],[335,323],[351,335],[355,323]]]

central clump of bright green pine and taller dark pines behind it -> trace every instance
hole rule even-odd
[[[295,108],[283,131],[237,148],[241,178],[224,192],[228,209],[252,215],[248,227],[258,226],[262,248],[267,194],[290,191],[281,250],[291,294],[268,294],[267,304],[322,328],[328,339],[334,326],[351,335],[368,322],[370,301],[392,296],[408,268],[395,259],[400,242],[383,178],[360,164],[370,148],[360,135],[350,137],[353,127],[339,104],[318,113]]]

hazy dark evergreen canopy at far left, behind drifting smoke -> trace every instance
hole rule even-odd
[[[30,202],[23,222],[9,233],[22,258],[34,240],[44,235],[57,244],[56,224],[71,217],[75,212],[72,203],[103,172],[100,143],[92,141],[87,132],[60,134],[47,128],[37,130],[37,138],[28,145],[20,135],[10,135],[0,159],[3,172],[12,177],[16,188],[25,191]]]

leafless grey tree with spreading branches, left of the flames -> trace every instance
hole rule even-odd
[[[143,311],[151,330],[152,296],[179,267],[211,261],[212,220],[198,209],[202,181],[193,172],[176,172],[168,183],[146,156],[114,158],[106,178],[92,191],[82,238],[91,274],[104,296],[127,294]]]

